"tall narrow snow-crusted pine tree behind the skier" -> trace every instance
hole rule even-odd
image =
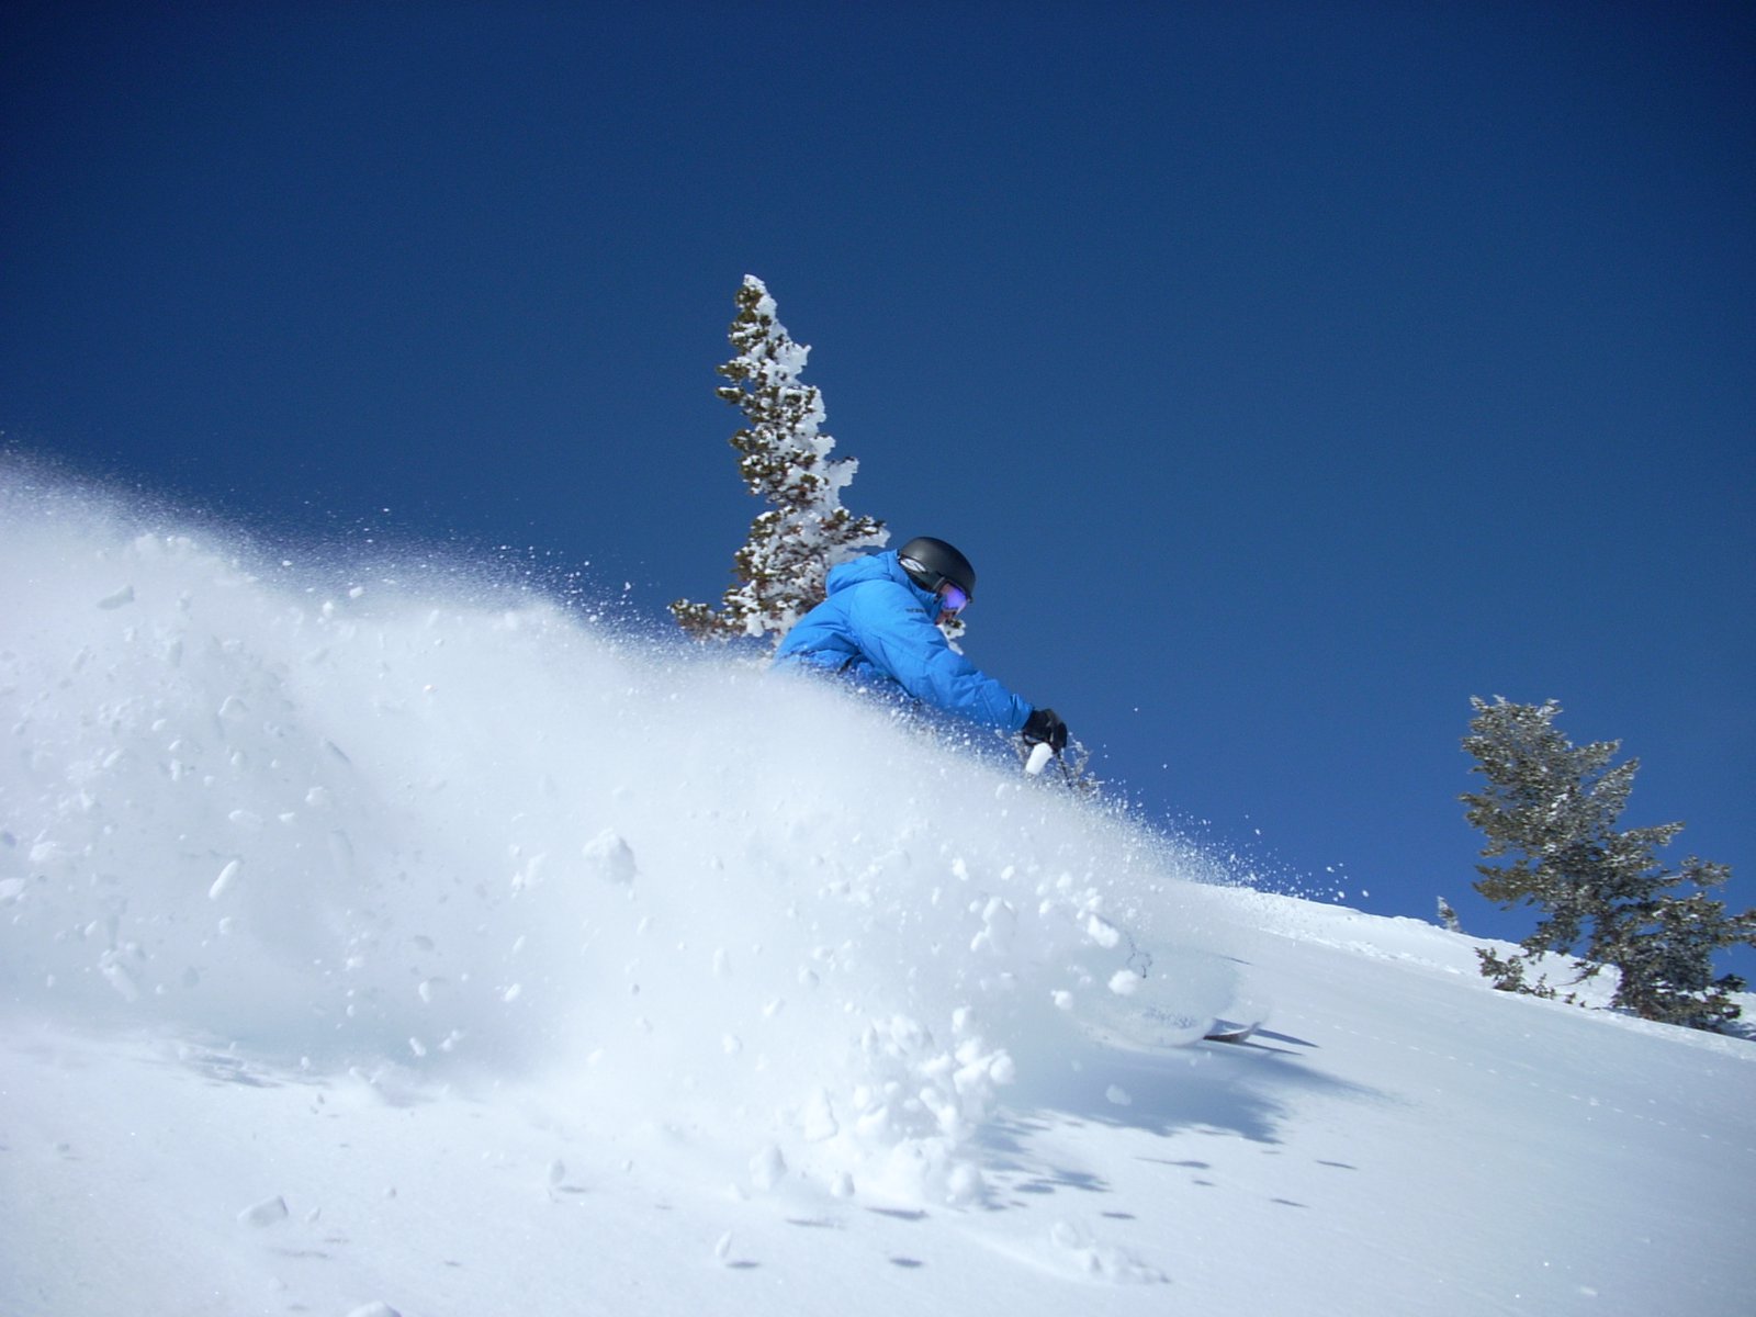
[[[774,632],[776,643],[824,599],[829,569],[867,548],[883,548],[889,532],[871,516],[841,506],[841,490],[859,469],[855,458],[831,458],[824,399],[799,372],[810,348],[794,342],[774,318],[774,299],[753,274],[738,290],[730,327],[738,349],[720,374],[718,395],[743,411],[732,435],[738,471],[771,504],[750,523],[750,537],[732,555],[732,585],[720,608],[680,599],[678,625],[695,639],[732,639]]]

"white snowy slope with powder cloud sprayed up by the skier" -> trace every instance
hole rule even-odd
[[[5,1317],[1749,1312],[1749,1041],[815,681],[4,474]],[[1143,1045],[1141,952],[1263,1027]]]

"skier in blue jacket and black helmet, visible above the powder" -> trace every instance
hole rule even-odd
[[[839,673],[880,690],[901,690],[936,709],[1020,734],[1027,745],[1068,746],[1054,709],[1033,708],[952,648],[938,623],[969,606],[976,569],[943,539],[922,536],[901,550],[832,567],[829,597],[806,613],[774,651],[780,666]]]

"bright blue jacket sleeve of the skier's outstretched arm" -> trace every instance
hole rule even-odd
[[[848,601],[855,641],[918,701],[1017,732],[1031,706],[952,648],[901,585],[873,581]]]

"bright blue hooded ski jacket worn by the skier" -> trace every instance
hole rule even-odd
[[[901,687],[946,713],[1017,732],[1031,706],[952,648],[934,620],[939,601],[903,571],[896,550],[832,567],[829,597],[799,618],[774,651],[778,666]]]

